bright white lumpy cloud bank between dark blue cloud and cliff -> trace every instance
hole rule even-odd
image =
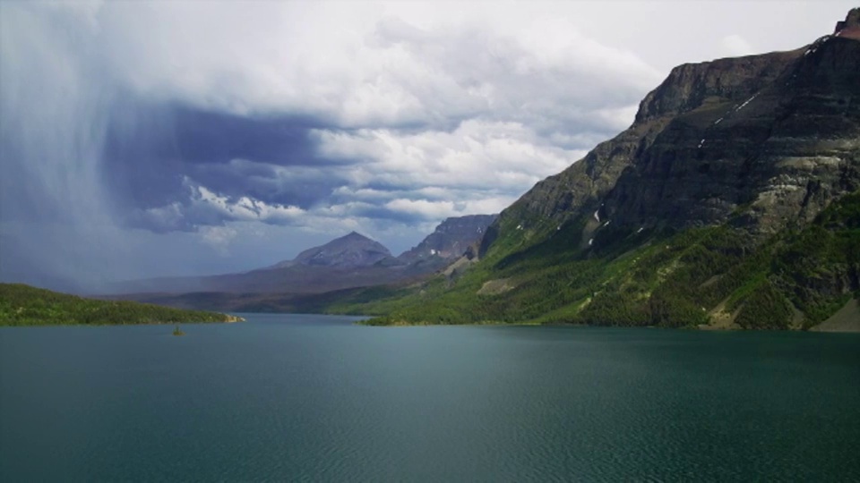
[[[521,123],[477,120],[450,132],[318,130],[314,136],[323,157],[366,160],[345,174],[359,188],[382,182],[411,190],[469,189],[482,196],[520,194],[586,152],[555,146]]]

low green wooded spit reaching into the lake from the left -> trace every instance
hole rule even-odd
[[[242,320],[218,312],[174,309],[133,301],[102,301],[26,284],[0,284],[0,326],[121,326]],[[176,326],[176,331],[174,335],[185,334],[179,326]]]

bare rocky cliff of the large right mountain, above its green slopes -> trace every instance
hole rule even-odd
[[[676,67],[627,131],[504,210],[483,251],[500,234],[524,241],[577,218],[589,218],[589,239],[607,221],[685,228],[740,215],[765,234],[809,223],[860,187],[858,63],[860,42],[827,36]]]

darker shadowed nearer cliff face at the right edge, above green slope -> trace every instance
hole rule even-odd
[[[767,235],[860,188],[860,42],[827,37],[778,57],[767,63],[778,76],[675,115],[619,177],[606,217],[684,228],[740,215]]]

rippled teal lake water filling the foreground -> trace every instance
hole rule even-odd
[[[860,336],[0,329],[0,480],[860,480]]]

